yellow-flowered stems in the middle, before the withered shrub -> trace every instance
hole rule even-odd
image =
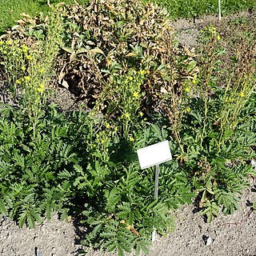
[[[133,140],[132,133],[138,120],[143,116],[141,86],[145,74],[144,70],[129,70],[124,75],[113,75],[94,108],[99,111],[106,107],[104,111],[107,116],[121,124],[119,128],[122,137],[130,141]],[[107,105],[102,106],[102,102],[107,102]]]

